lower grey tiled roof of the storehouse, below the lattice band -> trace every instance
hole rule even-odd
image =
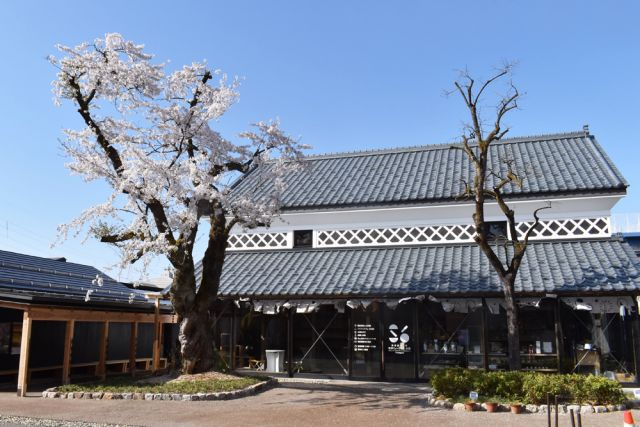
[[[636,292],[640,263],[619,239],[531,243],[519,293]],[[221,296],[341,297],[501,292],[476,245],[228,252]]]

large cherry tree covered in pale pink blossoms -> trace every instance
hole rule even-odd
[[[300,167],[307,147],[277,122],[254,124],[239,135],[241,142],[221,136],[212,125],[238,99],[238,83],[206,64],[168,72],[144,46],[120,34],[57,49],[59,56],[49,57],[58,69],[55,102],[71,101],[84,123],[65,130],[67,167],[112,189],[104,203],[61,226],[61,235],[88,230],[120,249],[122,266],[166,257],[173,270],[170,296],[180,322],[182,369],[209,370],[209,310],[229,232],[236,224],[269,225],[278,212],[281,177]],[[234,195],[230,183],[248,173],[273,185],[273,196]],[[199,235],[207,239],[201,278],[193,258]]]

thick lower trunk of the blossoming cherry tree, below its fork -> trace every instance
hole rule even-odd
[[[194,306],[182,316],[178,339],[183,373],[206,372],[215,367],[213,338],[208,307]]]

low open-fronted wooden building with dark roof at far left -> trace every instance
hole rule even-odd
[[[17,381],[24,396],[32,381],[164,369],[176,318],[153,296],[88,265],[0,250],[0,387]]]

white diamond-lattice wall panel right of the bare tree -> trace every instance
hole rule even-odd
[[[524,237],[533,222],[517,224],[518,237]],[[531,240],[541,239],[571,239],[580,237],[610,237],[611,226],[608,217],[551,219],[540,221],[531,234]]]

